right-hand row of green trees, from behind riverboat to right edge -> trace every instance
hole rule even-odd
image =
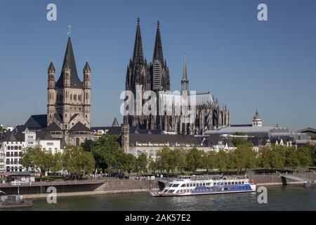
[[[183,172],[183,169],[191,172],[196,172],[197,169],[206,169],[206,172],[210,169],[218,169],[220,172],[229,169],[246,172],[247,169],[258,167],[271,170],[291,168],[295,171],[298,167],[307,167],[312,163],[312,152],[308,147],[296,149],[268,146],[256,152],[249,144],[242,143],[235,150],[211,150],[207,153],[197,148],[171,150],[164,147],[159,151],[157,160],[149,163],[149,168],[153,171],[165,171],[167,174]]]

